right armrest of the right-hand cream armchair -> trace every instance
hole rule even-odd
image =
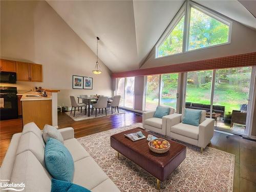
[[[198,146],[205,148],[214,136],[214,119],[206,118],[199,124]]]

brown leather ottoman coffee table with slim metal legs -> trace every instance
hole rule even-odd
[[[117,157],[120,153],[153,175],[157,179],[157,189],[159,189],[160,181],[164,181],[186,158],[186,146],[168,140],[170,143],[169,151],[164,154],[157,154],[150,151],[146,139],[133,142],[124,136],[124,134],[139,131],[147,138],[147,132],[136,128],[112,135],[110,145],[117,151]]]

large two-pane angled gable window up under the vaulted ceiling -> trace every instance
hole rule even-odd
[[[194,2],[185,2],[156,45],[156,58],[230,42],[232,22]]]

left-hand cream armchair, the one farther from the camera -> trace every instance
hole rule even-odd
[[[169,115],[163,116],[162,119],[154,117],[155,111],[144,112],[142,116],[143,127],[146,130],[166,135],[166,120],[174,111],[175,109],[170,107]]]

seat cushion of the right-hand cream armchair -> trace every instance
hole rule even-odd
[[[178,123],[170,127],[170,132],[198,140],[199,127],[190,124]]]

